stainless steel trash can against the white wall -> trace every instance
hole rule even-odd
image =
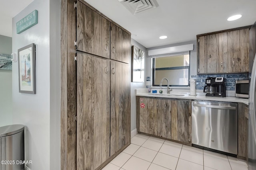
[[[0,127],[0,170],[24,170],[24,125]]]

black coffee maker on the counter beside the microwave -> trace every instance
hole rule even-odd
[[[223,77],[207,77],[205,80],[205,96],[226,97],[226,86]]]

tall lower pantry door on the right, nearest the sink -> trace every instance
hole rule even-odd
[[[130,143],[130,69],[110,62],[110,156]]]

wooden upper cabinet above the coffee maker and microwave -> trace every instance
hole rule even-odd
[[[198,35],[198,74],[248,72],[248,27]]]

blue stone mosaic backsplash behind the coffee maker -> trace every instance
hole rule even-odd
[[[191,78],[196,78],[196,89],[204,90],[205,79],[207,77],[224,77],[226,78],[226,90],[235,90],[236,80],[248,80],[249,74],[205,74],[193,75]]]

